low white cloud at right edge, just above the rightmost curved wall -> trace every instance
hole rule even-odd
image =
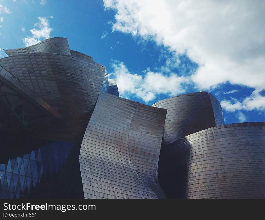
[[[231,100],[222,100],[220,102],[222,108],[227,112],[235,112],[239,110],[265,110],[265,96],[260,95],[259,90],[254,90],[251,96],[245,98],[242,102],[237,99],[231,98]]]

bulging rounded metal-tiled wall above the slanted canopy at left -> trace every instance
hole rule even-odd
[[[72,141],[82,133],[99,91],[106,87],[103,81],[108,83],[104,66],[67,55],[24,53],[2,58],[0,65],[65,117],[65,124],[54,129],[34,129],[35,135],[56,140]]]

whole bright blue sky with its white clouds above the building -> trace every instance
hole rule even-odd
[[[67,37],[120,96],[152,105],[209,91],[225,123],[265,121],[264,1],[0,0],[3,49]]]

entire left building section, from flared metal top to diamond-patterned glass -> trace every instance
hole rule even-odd
[[[70,51],[66,38],[5,51],[0,198],[83,198],[80,146],[99,92],[108,91],[105,67]]]

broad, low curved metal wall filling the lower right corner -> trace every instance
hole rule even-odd
[[[158,172],[173,198],[264,199],[264,170],[265,123],[248,122],[177,140],[161,152]]]

